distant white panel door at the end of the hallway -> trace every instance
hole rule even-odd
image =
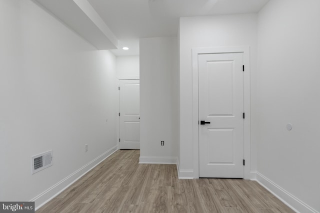
[[[140,149],[139,80],[119,80],[119,149]]]

